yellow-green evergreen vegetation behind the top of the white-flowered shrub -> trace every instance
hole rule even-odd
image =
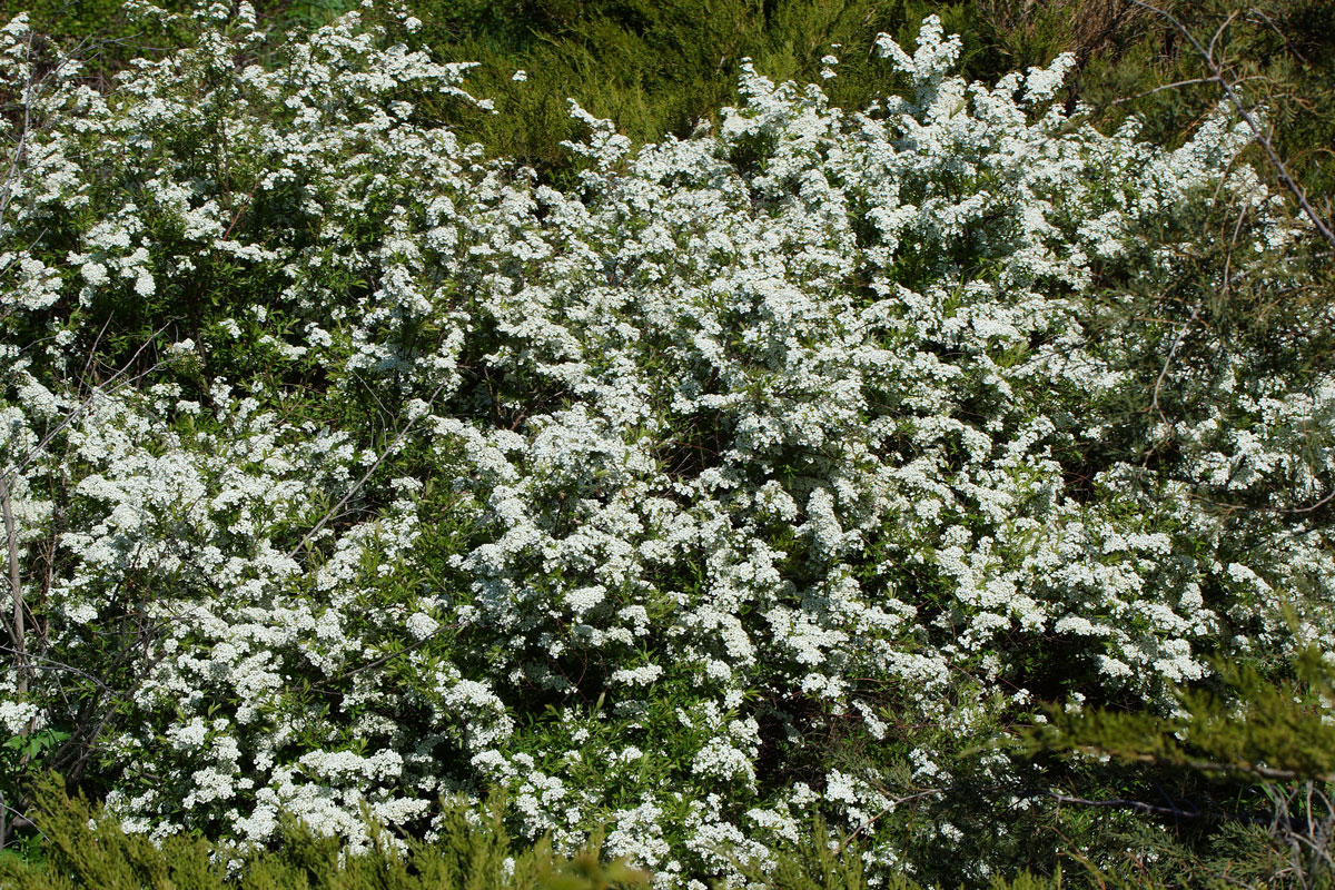
[[[164,3],[184,11],[184,0]],[[260,0],[275,36],[355,8],[354,0]],[[442,61],[478,61],[470,88],[495,99],[491,116],[454,111],[463,137],[493,156],[539,171],[569,165],[561,143],[577,135],[567,97],[611,119],[635,143],[685,137],[736,104],[741,60],[776,80],[820,81],[821,59],[840,59],[832,101],[865,107],[894,73],[874,59],[878,32],[912,45],[928,13],[964,37],[961,73],[996,80],[1076,56],[1071,103],[1115,127],[1135,115],[1153,141],[1175,144],[1222,99],[1212,72],[1169,20],[1133,0],[413,0],[414,35]],[[1335,185],[1335,7],[1326,0],[1161,0],[1251,105],[1266,108],[1280,156],[1318,200]],[[120,0],[32,0],[39,31],[80,47],[89,77],[170,41],[127,15]],[[514,73],[523,71],[525,80]],[[901,84],[902,85],[902,84]],[[446,113],[449,113],[446,111]]]

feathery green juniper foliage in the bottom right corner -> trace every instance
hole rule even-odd
[[[1311,648],[1279,677],[1222,666],[1211,686],[1181,690],[1169,715],[1052,709],[1024,747],[1072,758],[1084,797],[1056,795],[1065,802],[1147,814],[1139,843],[1128,845],[1139,857],[1101,871],[1079,857],[1101,878],[1330,887],[1332,694],[1335,667]],[[1100,775],[1115,777],[1103,798],[1092,794]]]

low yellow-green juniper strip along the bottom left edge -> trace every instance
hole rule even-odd
[[[374,849],[346,851],[338,838],[287,818],[274,850],[224,849],[176,834],[155,842],[128,834],[100,807],[71,797],[51,775],[37,783],[33,822],[43,862],[0,858],[5,890],[611,890],[646,886],[625,862],[602,862],[597,847],[573,858],[547,841],[515,849],[499,814],[473,823],[446,809],[434,842],[394,842],[372,830]]]

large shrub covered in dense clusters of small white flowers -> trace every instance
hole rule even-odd
[[[0,710],[128,829],[505,789],[701,886],[824,806],[981,877],[1033,778],[967,751],[1036,703],[1335,644],[1328,312],[1200,334],[1311,272],[1223,109],[1101,135],[928,19],[862,112],[746,67],[631,152],[573,104],[561,192],[433,123],[466,65],[352,13],[263,69],[242,9],[109,95],[0,32]]]

